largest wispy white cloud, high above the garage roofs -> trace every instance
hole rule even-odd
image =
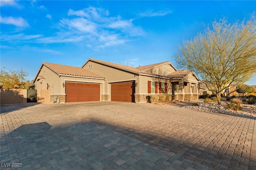
[[[69,32],[70,36],[84,37],[88,47],[109,47],[124,44],[142,36],[143,30],[132,24],[132,19],[123,20],[121,16],[110,17],[108,10],[89,7],[83,10],[68,10],[68,16],[76,18],[65,18],[60,20],[59,26],[62,32]],[[79,39],[75,39],[79,40]]]

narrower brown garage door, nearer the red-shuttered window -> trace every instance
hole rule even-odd
[[[111,84],[111,101],[135,102],[135,82]]]

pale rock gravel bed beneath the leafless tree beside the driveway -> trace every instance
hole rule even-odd
[[[256,104],[254,105],[245,105],[242,104],[241,107],[243,108],[242,111],[234,111],[234,110],[226,110],[228,105],[221,104],[218,105],[217,103],[198,103],[199,106],[193,105],[186,105],[182,106],[182,109],[191,109],[196,111],[206,111],[206,112],[213,112],[213,113],[222,113],[228,115],[239,115],[239,116],[246,116],[246,117],[255,117],[256,118]]]

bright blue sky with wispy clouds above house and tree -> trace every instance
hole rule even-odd
[[[130,66],[170,61],[178,44],[228,18],[248,20],[256,1],[0,1],[1,68],[34,79],[42,62],[88,58]],[[256,85],[255,77],[247,82]]]

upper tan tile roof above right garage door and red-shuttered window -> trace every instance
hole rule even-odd
[[[90,58],[89,60],[95,61],[97,63],[102,63],[102,64],[105,64],[105,65],[109,65],[109,66],[112,66],[112,67],[116,67],[116,68],[119,68],[119,69],[124,69],[126,71],[131,71],[131,72],[134,72],[134,73],[145,73],[145,74],[149,74],[149,75],[156,75],[156,74],[148,73],[146,71],[148,71],[150,69],[153,69],[155,67],[164,65],[164,64],[171,64],[170,61],[165,61],[165,62],[162,62],[162,63],[156,63],[156,64],[145,65],[145,66],[140,66],[140,67],[130,67],[130,66],[111,63],[111,62],[108,62],[108,61],[102,61],[102,60],[98,60],[98,59]]]

